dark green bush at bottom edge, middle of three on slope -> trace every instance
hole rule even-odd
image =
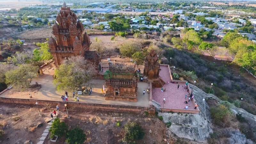
[[[67,144],[83,144],[86,140],[86,135],[80,127],[76,127],[67,132]]]

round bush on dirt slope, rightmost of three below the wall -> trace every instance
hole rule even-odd
[[[123,141],[126,143],[135,143],[134,140],[141,140],[145,135],[143,128],[135,122],[125,124],[124,133]]]

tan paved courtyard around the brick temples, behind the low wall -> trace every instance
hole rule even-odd
[[[34,84],[37,82],[38,84],[42,85],[42,88],[30,92],[30,91],[23,91],[18,92],[17,89],[7,90],[6,92],[2,93],[0,97],[8,97],[8,98],[20,98],[20,99],[29,99],[29,94],[31,93],[32,99],[37,100],[53,100],[62,101],[61,95],[65,95],[65,90],[63,91],[56,91],[55,87],[53,86],[53,74],[54,74],[55,66],[51,63],[47,65],[43,71],[44,75],[36,78],[31,82]],[[143,95],[143,90],[147,91],[149,84],[144,82],[138,83],[138,101],[137,102],[130,102],[130,101],[115,101],[115,100],[105,100],[104,95],[100,92],[102,89],[103,84],[105,84],[105,80],[96,80],[93,79],[92,83],[92,94],[82,94],[78,95],[79,102],[85,103],[95,103],[95,104],[110,104],[110,105],[130,105],[130,106],[141,106],[141,107],[148,107],[149,106],[149,94],[145,93]],[[105,88],[106,85],[105,85]],[[68,101],[74,101],[72,98],[72,92],[68,92]]]

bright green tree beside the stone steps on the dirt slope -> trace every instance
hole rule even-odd
[[[60,122],[60,118],[55,118],[52,122],[52,126],[49,128],[49,132],[51,132],[50,138],[53,138],[55,135],[58,137],[62,137],[68,131],[68,125],[65,122]]]

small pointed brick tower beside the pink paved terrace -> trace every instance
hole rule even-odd
[[[154,80],[159,77],[159,72],[160,72],[160,66],[158,62],[158,57],[155,52],[155,50],[151,50],[148,53],[148,56],[146,57],[145,60],[145,68],[143,75],[148,78],[148,80]]]

